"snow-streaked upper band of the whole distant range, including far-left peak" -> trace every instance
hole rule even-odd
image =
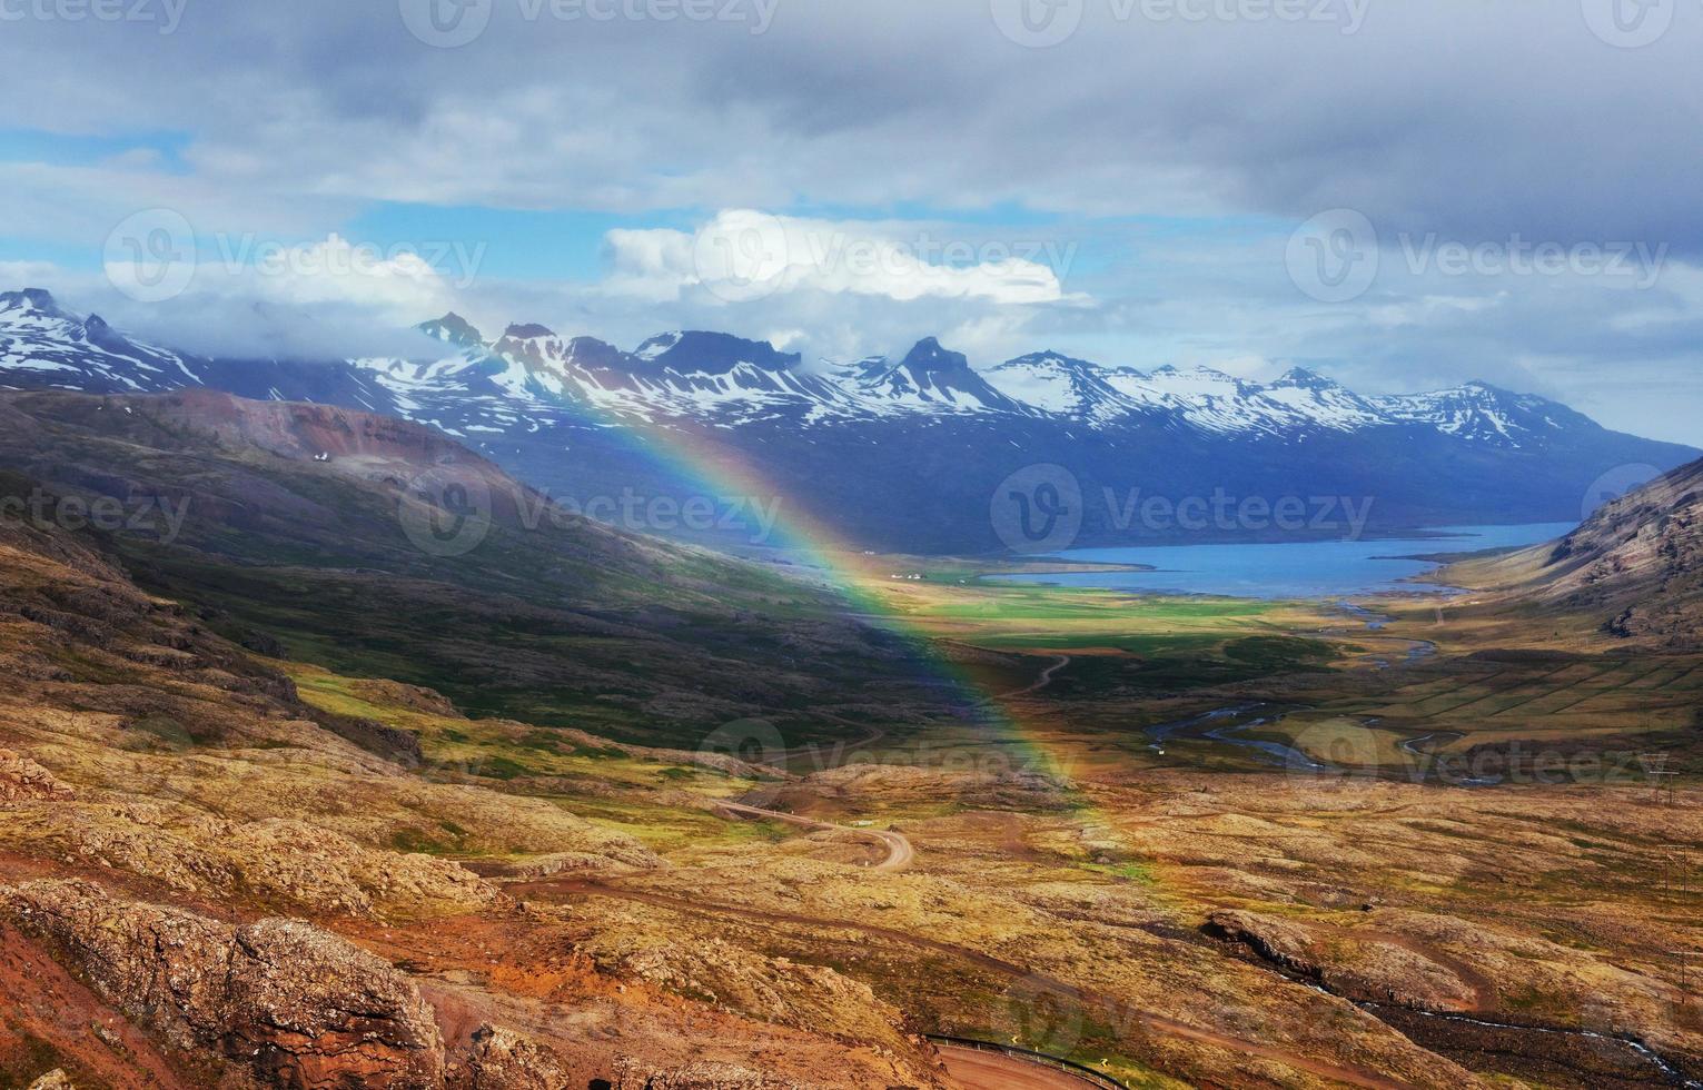
[[[565,417],[732,429],[758,421],[809,427],[889,416],[1006,414],[1092,429],[1156,421],[1243,438],[1424,427],[1475,446],[1521,448],[1596,427],[1565,405],[1485,383],[1361,397],[1299,368],[1257,383],[1213,368],[1139,371],[1051,351],[979,371],[933,337],[897,363],[869,358],[807,371],[794,353],[719,332],[666,332],[628,353],[536,324],[509,325],[485,341],[455,313],[419,329],[444,346],[439,358],[351,359],[324,371],[238,366],[129,341],[99,317],[63,312],[46,291],[12,291],[0,295],[0,387],[150,392],[218,385],[250,397],[353,400],[460,436],[536,431]]]

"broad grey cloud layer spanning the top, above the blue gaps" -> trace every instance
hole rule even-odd
[[[1025,49],[986,0],[787,5],[761,34],[494,0],[477,41],[434,49],[395,3],[301,0],[198,5],[169,36],[9,24],[0,56],[32,89],[31,124],[187,131],[184,162],[245,198],[1352,206],[1466,238],[1521,228],[1694,250],[1703,12],[1677,5],[1659,41],[1616,49],[1579,2],[1379,3],[1356,24],[1252,17],[1294,5],[1085,0],[1080,31]],[[1182,9],[1211,17],[1153,17]],[[133,63],[138,39],[150,65]]]

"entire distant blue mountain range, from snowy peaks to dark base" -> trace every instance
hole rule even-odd
[[[1127,523],[1129,501],[1146,497],[1352,497],[1371,504],[1374,530],[1570,519],[1603,473],[1698,455],[1485,383],[1369,397],[1299,368],[1259,383],[1032,353],[979,370],[935,339],[899,359],[806,363],[720,332],[625,351],[536,324],[487,337],[455,313],[419,329],[429,341],[407,359],[218,359],[143,344],[26,290],[0,295],[0,388],[204,387],[342,405],[429,424],[571,504],[780,502],[858,545],[915,552],[1010,545],[989,502],[1035,465],[1080,490],[1076,542],[1110,545],[1178,533]],[[700,536],[773,543],[756,530]]]

